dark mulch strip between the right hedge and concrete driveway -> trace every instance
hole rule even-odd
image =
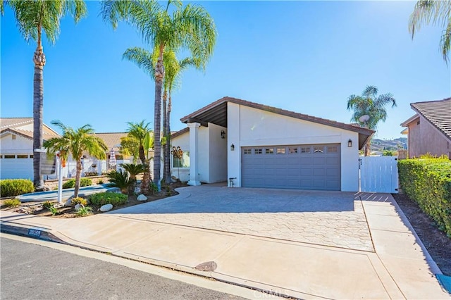
[[[443,274],[451,276],[451,239],[438,230],[435,222],[426,215],[415,201],[405,194],[393,194],[404,215],[409,219],[416,234],[431,254]]]

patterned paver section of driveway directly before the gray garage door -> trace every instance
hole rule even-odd
[[[184,187],[171,199],[111,213],[345,249],[374,251],[362,201],[349,192]]]

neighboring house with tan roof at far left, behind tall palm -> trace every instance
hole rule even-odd
[[[59,137],[45,125],[43,139]],[[0,179],[33,179],[33,118],[0,118]]]

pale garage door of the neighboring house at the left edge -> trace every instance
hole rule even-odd
[[[33,158],[5,154],[0,158],[0,179],[33,179]]]

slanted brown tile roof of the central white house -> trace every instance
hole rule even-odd
[[[286,111],[285,109],[280,109],[272,106],[266,106],[263,104],[258,104],[250,101],[245,101],[242,99],[232,98],[229,96],[223,97],[213,103],[200,108],[198,111],[194,111],[190,115],[186,115],[180,120],[182,123],[197,122],[205,125],[206,123],[213,123],[222,127],[227,127],[227,102],[240,104],[243,106],[248,106],[251,108],[261,109],[262,111],[268,111],[271,113],[278,113],[279,115],[285,115],[291,118],[297,118],[300,120],[306,120],[309,122],[319,123],[323,125],[328,125],[332,127],[338,127],[345,130],[350,130],[359,133],[359,149],[361,149],[366,142],[368,142],[369,137],[374,133],[365,127],[360,127],[354,124],[340,123],[334,120],[328,120],[323,118],[314,117],[312,115],[305,115],[303,113],[295,113],[294,111]]]

